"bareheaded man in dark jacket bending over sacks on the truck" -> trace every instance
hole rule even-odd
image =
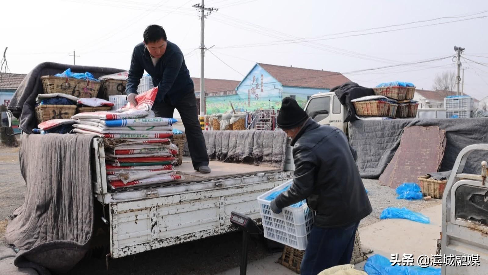
[[[137,105],[137,86],[144,70],[152,78],[158,94],[153,105],[159,117],[173,117],[176,108],[185,128],[188,149],[193,168],[201,173],[210,173],[208,155],[198,120],[198,109],[193,80],[186,68],[183,53],[176,44],[167,40],[166,32],[159,25],[150,25],[144,30],[144,42],[132,52],[127,78],[127,100]]]

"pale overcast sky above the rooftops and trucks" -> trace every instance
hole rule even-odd
[[[191,76],[200,77],[200,20],[191,7],[197,2],[2,1],[0,49],[8,46],[13,73],[44,61],[73,64],[74,49],[77,65],[129,69],[144,28],[157,23],[182,49]],[[488,16],[486,0],[207,0],[205,6],[219,8],[205,20],[205,46],[214,46],[205,54],[206,78],[242,80],[258,62],[338,71],[366,87],[399,80],[431,89],[436,73],[455,71],[449,56],[462,46],[464,57],[481,63],[462,60],[469,68],[465,93],[488,96],[488,17],[471,19]],[[416,21],[426,22],[406,24]],[[443,57],[449,58],[346,73]]]

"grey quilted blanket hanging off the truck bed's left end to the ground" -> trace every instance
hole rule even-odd
[[[41,275],[65,273],[88,250],[93,230],[89,135],[24,135],[20,171],[25,201],[5,239],[20,251],[14,264]]]

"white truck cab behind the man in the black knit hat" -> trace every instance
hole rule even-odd
[[[322,125],[330,125],[347,133],[346,106],[343,106],[334,92],[316,93],[305,105],[305,112]]]

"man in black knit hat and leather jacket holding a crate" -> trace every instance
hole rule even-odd
[[[306,199],[315,214],[301,274],[350,263],[356,229],[372,208],[346,135],[319,125],[290,97],[283,99],[277,124],[292,138],[295,171],[293,184],[271,209],[280,213]]]

